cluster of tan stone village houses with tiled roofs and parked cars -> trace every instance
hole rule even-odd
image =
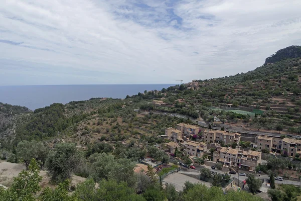
[[[166,128],[165,135],[160,137],[169,142],[156,144],[156,147],[170,157],[170,163],[161,163],[152,157],[146,157],[142,163],[152,165],[160,178],[163,177],[163,183],[172,183],[178,191],[182,190],[186,181],[215,185],[215,175],[221,175],[221,186],[225,191],[242,190],[248,188],[247,175],[253,174],[262,180],[260,192],[266,194],[270,188],[270,177],[258,169],[260,164],[267,162],[262,156],[265,159],[270,156],[283,158],[283,152],[287,152],[285,158],[291,160],[301,153],[301,140],[298,139],[257,135],[255,143],[243,142],[239,133],[204,129],[184,123],[177,124],[175,128]],[[241,146],[244,143],[249,147]],[[171,168],[175,167],[172,162],[178,168]],[[135,172],[143,168],[146,171],[147,166],[138,164]],[[166,168],[170,168],[170,172],[160,174]],[[202,172],[210,172],[207,179],[202,176],[205,174]],[[298,177],[283,178],[275,176],[276,183],[299,185]]]

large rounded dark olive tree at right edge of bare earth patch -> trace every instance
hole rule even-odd
[[[77,151],[73,143],[59,143],[46,160],[46,167],[55,182],[71,178],[72,172],[83,161],[83,154]]]

